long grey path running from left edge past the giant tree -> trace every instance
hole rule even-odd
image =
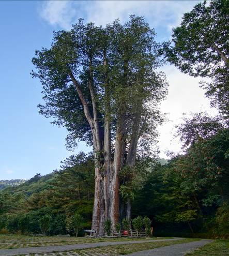
[[[152,243],[152,242],[163,242],[163,241],[174,241],[184,238],[174,237],[171,239],[157,239],[157,240],[133,240],[124,242],[99,242],[90,244],[71,244],[71,245],[52,245],[52,246],[40,246],[40,247],[26,247],[26,248],[15,248],[15,249],[1,249],[1,256],[13,256],[29,253],[44,253],[53,251],[69,251],[77,249],[94,248],[97,246],[109,246],[109,245],[126,245],[126,244],[141,244],[141,243]]]

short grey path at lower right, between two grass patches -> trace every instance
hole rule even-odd
[[[202,239],[186,244],[169,245],[152,250],[138,251],[126,254],[126,256],[181,256],[211,242],[213,242],[213,240]]]

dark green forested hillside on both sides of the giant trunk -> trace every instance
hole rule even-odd
[[[149,216],[156,235],[228,236],[229,131],[217,132],[161,165],[138,159],[132,184],[121,186],[121,199],[131,197],[132,218]],[[160,160],[160,159],[159,159]],[[7,216],[9,232],[41,232],[39,219],[50,216],[48,233],[66,233],[66,218],[75,213],[90,228],[94,199],[92,155],[80,153],[62,162],[51,174],[35,175],[17,187],[0,192],[0,214]]]

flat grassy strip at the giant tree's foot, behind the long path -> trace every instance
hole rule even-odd
[[[161,239],[154,238],[134,238],[134,239]],[[166,237],[163,237],[165,239]],[[170,238],[170,237],[167,237]],[[48,245],[68,245],[68,244],[86,244],[106,241],[127,241],[131,238],[90,238],[90,237],[56,237],[56,236],[25,236],[25,235],[0,235],[0,249],[37,247]]]

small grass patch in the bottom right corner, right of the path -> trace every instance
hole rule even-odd
[[[207,244],[186,256],[228,256],[229,255],[229,240],[216,240]]]

